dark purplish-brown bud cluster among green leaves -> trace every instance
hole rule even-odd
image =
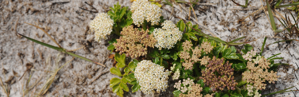
[[[224,58],[216,59],[216,57],[213,56],[213,59],[209,61],[205,70],[201,71],[203,82],[207,85],[211,85],[213,91],[216,91],[216,89],[223,90],[225,87],[227,87],[228,90],[235,90],[234,87],[238,84],[235,82],[236,80],[234,80],[234,69],[231,68],[232,63],[228,63],[228,61],[225,64],[223,63]]]

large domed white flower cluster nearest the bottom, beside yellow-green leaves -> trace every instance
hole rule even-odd
[[[137,79],[140,90],[144,94],[152,94],[155,92],[154,89],[159,93],[160,91],[165,91],[168,87],[168,76],[169,71],[164,71],[165,68],[158,64],[151,62],[150,60],[142,60],[137,64],[134,71],[135,78]]]

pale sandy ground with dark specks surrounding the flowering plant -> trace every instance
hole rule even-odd
[[[94,42],[93,32],[88,29],[89,22],[95,17],[96,13],[82,10],[81,8],[92,10],[90,6],[85,4],[85,1],[68,1],[68,0],[35,0],[35,1],[19,1],[19,0],[4,0],[0,4],[0,77],[5,85],[8,85],[10,97],[31,97],[39,93],[39,90],[46,83],[50,74],[56,68],[62,66],[65,62],[72,59],[72,56],[60,53],[54,49],[39,45],[26,38],[16,35],[16,32],[33,39],[51,44],[56,44],[42,30],[34,26],[25,24],[35,24],[45,29],[63,48],[73,50],[75,54],[103,63],[107,67],[93,64],[79,58],[75,58],[70,64],[63,67],[56,75],[51,87],[43,96],[58,96],[58,97],[109,97],[116,96],[112,93],[109,87],[109,80],[113,77],[118,77],[109,72],[112,67],[112,59],[108,56],[110,51],[107,40],[102,43]],[[117,0],[86,0],[99,12],[107,12],[109,7],[117,3]],[[119,0],[122,7],[129,6],[129,0]],[[244,1],[237,0],[240,4],[245,4]],[[244,22],[237,22],[239,19],[248,16],[261,7],[259,0],[249,0],[248,8],[250,10],[242,10],[242,7],[235,6],[230,0],[200,0],[199,3],[212,3],[212,5],[197,5],[196,10],[197,23],[201,28],[209,30],[216,37],[225,41],[230,41],[238,37],[247,36],[240,40],[250,41],[254,50],[259,52],[265,36],[274,36],[269,21],[265,12],[259,11],[253,16],[245,19]],[[283,4],[287,4],[284,1]],[[184,4],[182,4],[184,6]],[[263,6],[266,3],[263,1]],[[175,6],[174,15],[185,20],[188,19],[186,14],[189,12],[181,11]],[[238,10],[233,10],[233,8]],[[170,16],[172,7],[163,5],[162,15],[164,19],[169,18],[173,22],[179,21],[178,18]],[[283,14],[287,12],[285,8],[277,9]],[[95,10],[92,10],[95,11]],[[192,12],[192,11],[191,11]],[[267,13],[267,12],[266,12]],[[193,14],[193,13],[192,13]],[[194,17],[191,14],[192,17]],[[279,15],[275,13],[278,17]],[[287,14],[290,15],[290,14]],[[295,13],[294,13],[295,15]],[[191,20],[192,21],[192,20]],[[196,22],[192,21],[193,24]],[[280,22],[275,18],[278,29],[283,29]],[[293,23],[294,24],[294,23]],[[234,30],[234,31],[233,31]],[[209,32],[202,30],[204,33]],[[282,37],[283,34],[277,35]],[[278,38],[269,37],[266,45],[275,42]],[[299,39],[296,36],[289,39]],[[282,39],[280,39],[282,40]],[[242,45],[237,48],[243,48]],[[284,57],[283,60],[276,60],[277,63],[289,63],[290,66],[279,66],[277,75],[281,77],[275,84],[267,85],[263,94],[283,90],[292,87],[291,90],[299,89],[299,42],[285,42],[272,44],[265,48],[263,55],[270,57],[274,54],[281,53],[277,57]],[[31,70],[26,71],[26,65],[33,65]],[[25,74],[24,74],[25,73]],[[21,76],[24,74],[21,80]],[[31,76],[31,77],[30,77]],[[28,80],[30,82],[28,83]],[[151,96],[173,96],[173,83],[170,80],[167,92],[155,94]],[[31,88],[31,86],[35,86]],[[129,85],[129,88],[132,87]],[[6,97],[3,89],[0,89],[0,97]],[[27,93],[26,90],[29,90]],[[25,92],[24,92],[25,91]],[[131,91],[131,90],[130,90]],[[139,90],[135,93],[124,93],[124,96],[148,96],[141,93]],[[299,92],[288,92],[271,95],[269,97],[299,97]]]

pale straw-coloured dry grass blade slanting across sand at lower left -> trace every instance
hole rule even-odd
[[[54,78],[55,78],[57,72],[58,72],[61,68],[63,68],[66,64],[68,64],[69,62],[71,62],[72,60],[74,60],[74,58],[75,58],[75,57],[73,57],[71,60],[69,60],[68,62],[66,62],[66,63],[65,63],[64,65],[62,65],[60,68],[58,68],[58,69],[55,70],[54,74],[51,75],[51,77],[47,80],[46,84],[45,84],[45,85],[42,87],[42,89],[39,91],[37,97],[40,96],[40,95],[44,95],[45,93],[47,93],[47,91],[48,91],[48,89],[50,88],[52,82],[54,81]]]

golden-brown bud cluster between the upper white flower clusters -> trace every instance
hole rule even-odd
[[[115,51],[119,51],[119,54],[126,52],[127,57],[146,55],[147,46],[153,48],[156,43],[155,38],[147,32],[149,30],[139,31],[137,28],[134,29],[132,25],[124,27],[123,31],[120,32],[123,36],[117,39],[117,43],[113,43]]]

